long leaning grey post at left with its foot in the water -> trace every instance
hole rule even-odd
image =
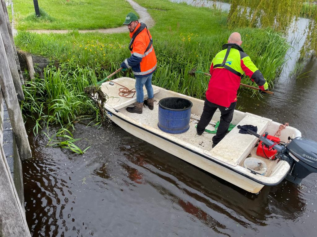
[[[7,60],[2,34],[0,34],[0,85],[3,92],[5,103],[7,104],[8,113],[16,137],[16,144],[19,149],[22,160],[31,158],[31,149],[28,136],[24,127],[19,102],[14,90],[10,67]]]

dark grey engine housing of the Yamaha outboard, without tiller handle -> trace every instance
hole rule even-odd
[[[302,137],[287,144],[286,153],[294,160],[285,179],[300,184],[310,173],[317,173],[317,142]]]

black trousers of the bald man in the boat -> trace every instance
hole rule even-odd
[[[212,116],[214,115],[214,113],[216,112],[218,108],[221,112],[220,124],[218,126],[216,136],[212,137],[212,142],[215,144],[219,143],[223,139],[223,137],[226,136],[228,132],[230,122],[232,121],[232,118],[233,118],[233,112],[235,111],[235,108],[236,108],[236,104],[237,104],[236,102],[233,102],[227,108],[227,107],[223,107],[223,106],[211,103],[210,101],[206,99],[204,103],[203,113],[200,117],[200,121],[197,124],[197,133],[201,134],[204,132],[205,128],[210,123]]]

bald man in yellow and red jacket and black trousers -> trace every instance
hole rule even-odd
[[[212,147],[228,132],[236,107],[241,76],[243,74],[249,76],[261,90],[268,89],[268,83],[243,51],[241,44],[241,35],[237,32],[232,33],[228,44],[222,46],[223,50],[217,53],[210,66],[211,77],[206,91],[204,110],[197,124],[197,134],[203,134],[218,108],[221,112],[220,124],[216,136],[212,137]]]

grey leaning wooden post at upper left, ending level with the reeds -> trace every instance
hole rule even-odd
[[[14,94],[16,94],[18,100],[21,101],[24,100],[24,94],[21,86],[20,76],[16,66],[16,61],[14,60],[9,31],[7,28],[2,6],[0,7],[0,32],[2,34],[3,44],[5,48],[4,55],[6,55],[6,57],[8,58],[11,77],[14,83],[14,88],[16,89],[16,92]]]

